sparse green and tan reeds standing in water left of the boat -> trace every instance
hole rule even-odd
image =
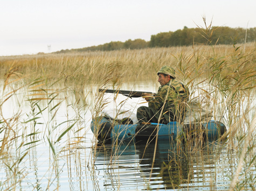
[[[63,156],[62,152],[80,148],[86,138],[84,115],[87,104],[84,101],[87,95],[79,97],[73,91],[77,99],[68,103],[70,91],[67,87],[56,89],[56,83],[49,83],[46,77],[33,80],[30,77],[19,74],[12,67],[5,74],[0,104],[0,156],[1,171],[2,174],[6,172],[6,177],[1,178],[0,190],[16,190],[25,186],[24,179],[31,172],[24,165],[29,159],[36,162],[35,153],[45,144],[49,146],[51,156],[45,170],[49,174],[49,177],[46,176],[48,182],[45,185],[45,177],[37,178],[37,183],[29,186],[29,189],[47,190],[52,189],[53,185],[54,189],[59,189],[63,168],[59,165],[59,159]],[[8,116],[5,110],[12,102],[17,105],[12,116]],[[24,105],[29,109],[25,109]],[[58,121],[59,113],[65,112],[63,105],[67,106],[67,110],[72,108],[75,115],[68,116],[67,112],[66,120]],[[40,186],[42,182],[43,187]]]

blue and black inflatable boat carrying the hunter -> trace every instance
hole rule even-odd
[[[124,124],[121,124],[124,123]],[[125,124],[126,122],[109,120],[104,116],[96,117],[91,122],[91,130],[100,142],[113,141],[135,141],[158,138],[158,140],[174,141],[183,135],[192,137],[200,136],[206,139],[215,140],[226,132],[222,122],[208,121],[192,124],[179,124],[169,122],[168,124]],[[158,135],[157,135],[158,132]]]

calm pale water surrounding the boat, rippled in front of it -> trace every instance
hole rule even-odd
[[[142,84],[134,89],[156,92],[157,87],[157,84]],[[29,97],[27,92],[17,92],[16,96],[5,102],[4,118],[10,120],[19,112],[20,122],[12,127],[24,137],[10,141],[12,144],[9,145],[10,149],[6,155],[8,158],[0,160],[0,190],[230,188],[230,178],[236,172],[239,161],[239,147],[231,150],[228,143],[213,141],[200,145],[158,142],[156,150],[155,142],[100,145],[96,143],[90,129],[94,96],[88,94],[86,107],[81,107],[85,104],[81,100],[78,104],[74,103],[79,96],[80,93],[65,91],[52,102],[40,101],[33,105],[26,101]],[[118,107],[126,97],[120,95],[115,100],[113,95],[107,94],[106,98],[109,102],[108,109]],[[141,102],[143,100],[139,98],[128,99],[123,107],[136,111],[137,107],[145,105],[139,104]],[[44,108],[46,109],[43,111]],[[33,117],[39,118],[22,123]],[[74,126],[61,136],[73,124]],[[34,132],[35,136],[30,136]],[[153,162],[154,151],[156,157]],[[24,158],[21,159],[23,155]],[[255,167],[250,166],[248,171],[253,157],[247,157],[240,173],[241,185],[244,179],[248,180],[245,189],[250,188],[250,183],[255,183]]]

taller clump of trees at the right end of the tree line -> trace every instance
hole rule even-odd
[[[205,34],[200,28],[184,27],[183,30],[175,32],[164,32],[151,35],[150,47],[170,47],[170,46],[188,46],[192,43],[201,44],[222,44],[229,45],[234,42],[245,42],[245,28],[230,27],[212,27],[208,34]],[[256,27],[247,30],[246,42],[256,40]]]

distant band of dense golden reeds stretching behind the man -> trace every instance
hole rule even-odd
[[[223,76],[225,82],[238,78],[245,70],[254,70],[255,43],[244,45],[195,45],[189,47],[115,50],[72,54],[24,55],[0,58],[1,76],[15,68],[28,79],[44,76],[68,85],[99,84],[113,64],[123,81],[156,79],[162,65],[172,65],[179,77],[193,79]],[[236,73],[235,73],[236,72]],[[212,76],[215,74],[215,76]],[[246,74],[245,74],[246,75]],[[255,78],[255,77],[254,77]]]

